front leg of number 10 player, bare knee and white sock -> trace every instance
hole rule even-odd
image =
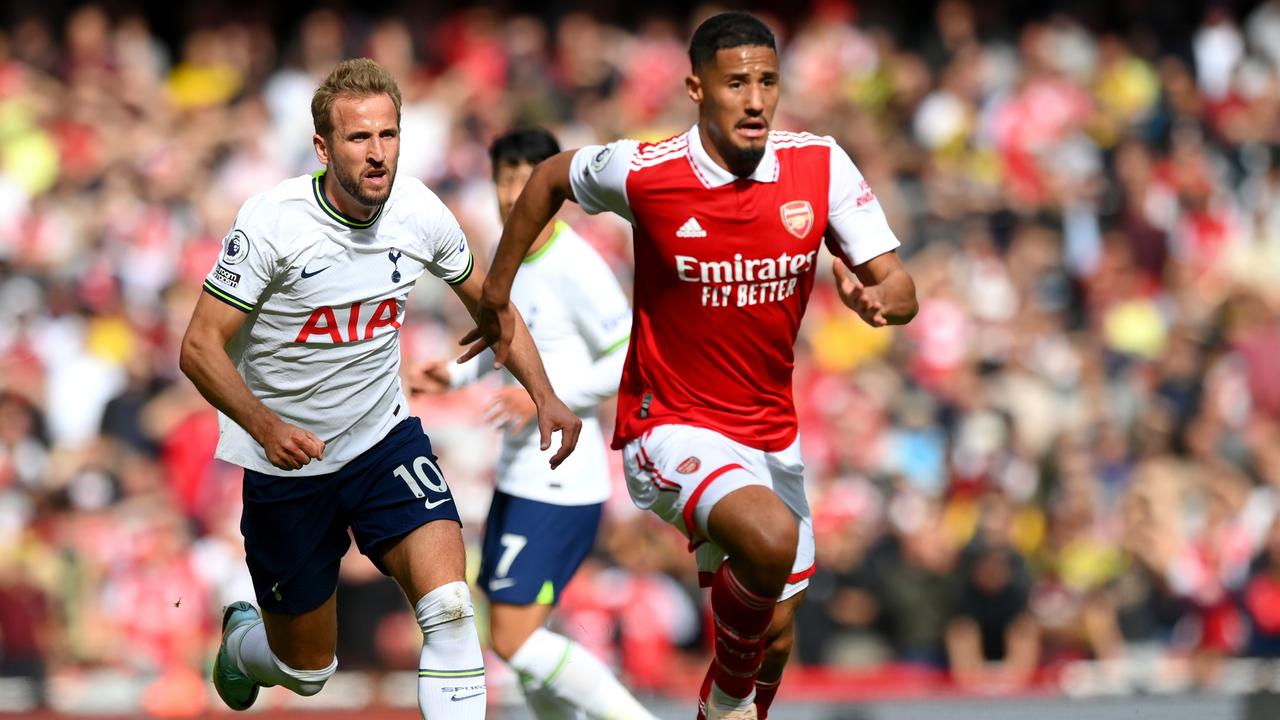
[[[396,541],[380,560],[413,605],[422,628],[417,678],[422,716],[483,719],[484,657],[471,591],[463,582],[462,528],[453,520],[428,523]]]

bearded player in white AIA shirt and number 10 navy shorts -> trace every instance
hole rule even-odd
[[[422,716],[485,714],[458,511],[399,379],[413,283],[435,275],[471,309],[483,273],[444,204],[415,178],[396,182],[399,110],[372,60],[334,68],[311,102],[325,169],[241,208],[183,337],[182,370],[219,410],[216,455],[244,468],[257,602],[223,611],[212,670],[233,710],[262,687],[315,694],[333,675],[338,568],[355,537],[415,609]],[[508,366],[536,401],[541,441],[562,430],[558,465],[580,421],[521,328]]]

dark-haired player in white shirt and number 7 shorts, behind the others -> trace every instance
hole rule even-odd
[[[506,219],[534,167],[559,152],[541,128],[520,128],[489,147],[498,211]],[[547,626],[564,585],[595,546],[609,464],[596,419],[600,402],[618,392],[631,337],[631,306],[608,264],[563,220],[548,224],[530,245],[511,290],[527,318],[557,395],[582,419],[577,450],[547,466],[535,407],[515,377],[489,414],[504,429],[502,456],[476,584],[489,596],[494,651],[520,675],[539,719],[653,720],[581,644]],[[410,388],[438,393],[463,387],[493,369],[493,354],[465,364],[435,360],[410,373]]]

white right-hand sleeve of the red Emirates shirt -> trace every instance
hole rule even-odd
[[[835,141],[827,236],[855,266],[901,245],[863,173]]]

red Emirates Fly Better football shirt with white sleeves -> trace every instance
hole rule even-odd
[[[736,178],[698,126],[655,143],[573,156],[588,213],[635,228],[635,319],[613,447],[659,424],[708,428],[777,452],[796,437],[791,373],[818,246],[851,265],[899,246],[876,195],[831,137],[771,132]]]

